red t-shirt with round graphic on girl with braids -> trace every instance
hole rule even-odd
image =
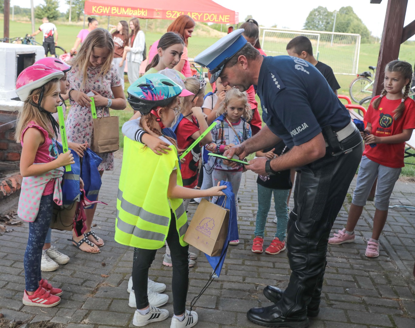
[[[377,137],[388,137],[402,133],[404,129],[415,128],[415,101],[407,98],[405,100],[405,111],[398,120],[393,118],[393,111],[399,106],[401,100],[389,100],[386,97],[381,99],[378,109],[374,109],[372,104],[367,109],[364,120],[372,124],[372,133]],[[402,168],[403,152],[405,143],[378,143],[371,148],[366,145],[363,155],[374,162],[388,166],[389,168]]]

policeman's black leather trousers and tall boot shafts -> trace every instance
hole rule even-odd
[[[277,303],[284,316],[306,314],[318,308],[327,264],[327,242],[350,182],[356,173],[363,144],[352,152],[325,157],[297,169],[294,209],[287,234],[290,281]]]

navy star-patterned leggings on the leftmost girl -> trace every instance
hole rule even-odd
[[[24,279],[27,291],[36,291],[42,279],[40,261],[53,210],[53,194],[42,196],[34,222],[29,222],[29,239],[24,252]]]

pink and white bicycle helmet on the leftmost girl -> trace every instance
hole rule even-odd
[[[30,93],[53,79],[61,79],[65,74],[57,69],[42,64],[25,68],[16,80],[16,93],[21,101],[29,98]],[[43,92],[42,92],[43,96]],[[40,103],[40,101],[39,101]]]

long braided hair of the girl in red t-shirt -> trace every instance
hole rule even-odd
[[[408,83],[405,85],[405,90],[403,91],[402,101],[399,106],[393,111],[393,119],[397,120],[403,114],[405,110],[405,100],[408,98],[410,91],[411,79],[412,79],[412,66],[408,62],[403,62],[401,60],[393,60],[386,65],[385,72],[399,72],[403,79],[408,79]],[[381,95],[372,103],[374,109],[379,108],[381,99],[386,96],[388,92],[383,89]]]

